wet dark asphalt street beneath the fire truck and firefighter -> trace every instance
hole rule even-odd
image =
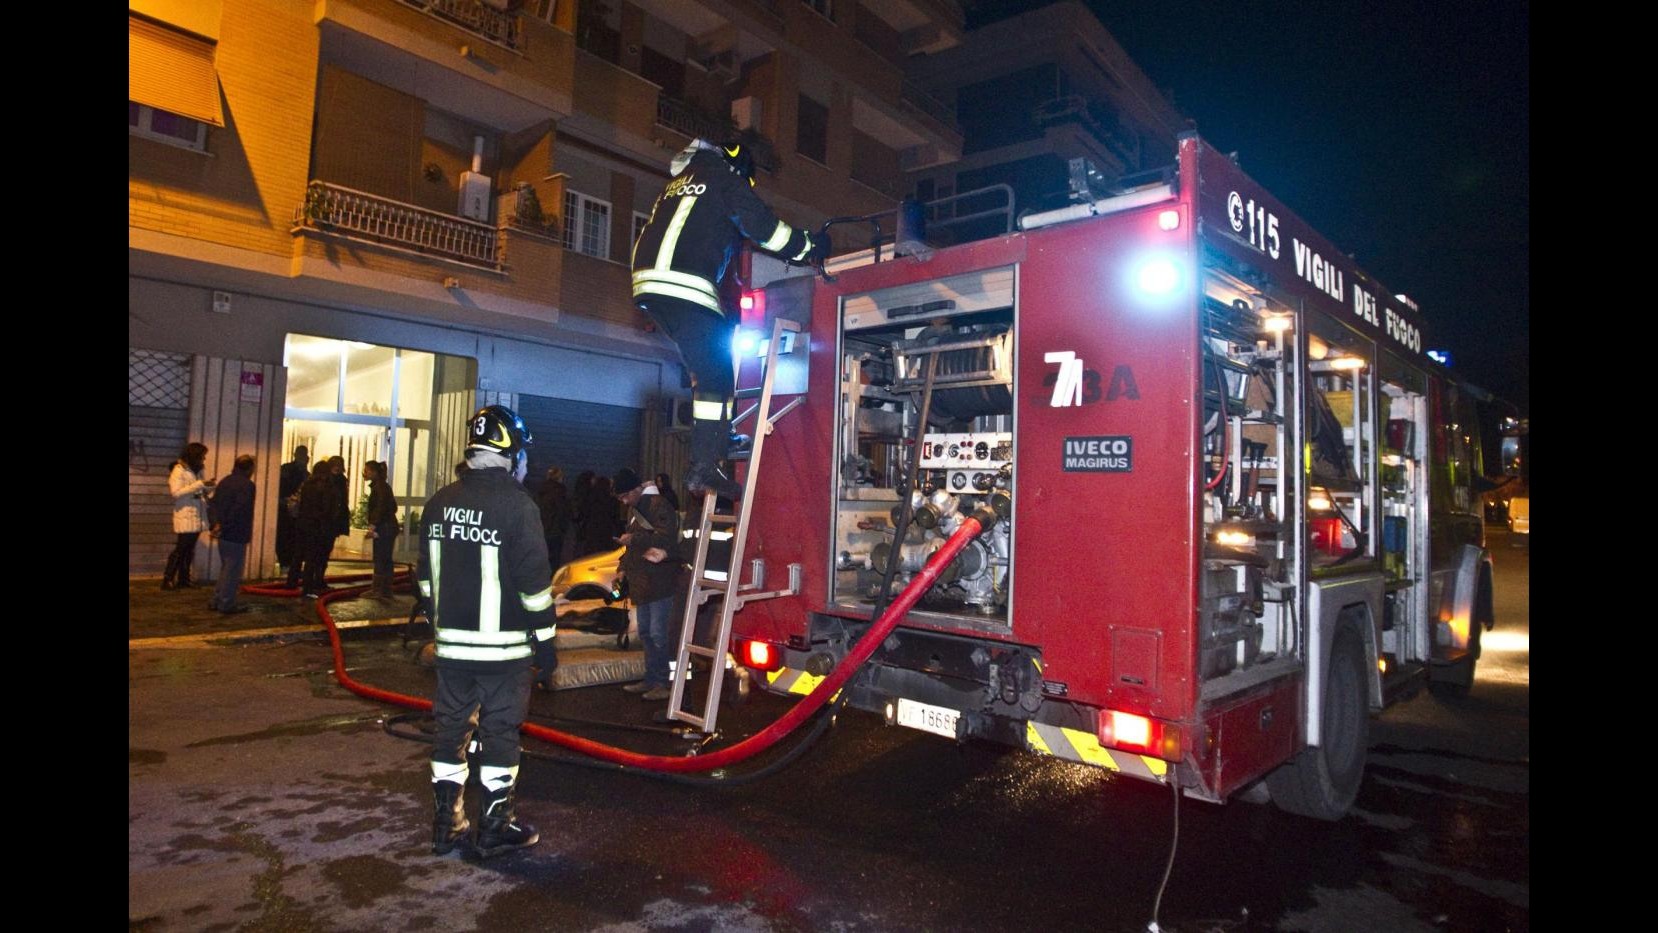
[[[1374,718],[1336,824],[1176,805],[1106,771],[844,713],[739,787],[532,757],[572,756],[527,741],[519,815],[541,844],[436,858],[426,747],[383,728],[405,711],[335,683],[327,643],[133,650],[129,928],[1144,930],[1156,906],[1187,931],[1529,930],[1529,550],[1502,529],[1489,545],[1497,626],[1474,689]],[[345,658],[363,683],[429,694],[395,635],[353,636]],[[721,713],[725,736],[786,709],[756,694]],[[537,694],[531,719],[683,751],[650,711],[595,686]]]

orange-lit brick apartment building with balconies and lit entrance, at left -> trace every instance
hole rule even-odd
[[[158,573],[186,441],[259,457],[250,573],[275,570],[297,444],[391,466],[406,527],[479,403],[532,477],[678,474],[673,346],[628,255],[696,134],[766,141],[791,224],[889,210],[960,156],[910,80],[953,0],[131,0],[129,572]],[[355,497],[361,496],[353,489]],[[405,537],[405,542],[408,537]],[[214,572],[212,549],[201,563]],[[347,545],[350,547],[350,545]]]

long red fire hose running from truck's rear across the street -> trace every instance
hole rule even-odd
[[[534,736],[537,739],[552,742],[555,746],[564,746],[567,749],[574,749],[582,754],[589,754],[592,757],[599,757],[604,761],[630,767],[643,767],[647,771],[667,771],[667,772],[713,771],[716,767],[725,767],[728,764],[753,757],[766,751],[773,744],[776,744],[779,739],[783,739],[783,736],[794,731],[794,728],[804,723],[807,716],[811,716],[824,703],[827,703],[829,698],[834,696],[846,684],[846,681],[852,678],[857,668],[864,661],[867,661],[870,655],[875,653],[875,648],[882,641],[885,641],[887,635],[899,625],[899,620],[904,618],[904,613],[910,612],[910,607],[914,607],[915,602],[922,598],[922,593],[932,588],[932,585],[938,580],[938,573],[942,573],[943,568],[948,567],[952,560],[955,560],[957,554],[960,554],[962,549],[967,547],[967,542],[978,537],[978,534],[983,529],[987,529],[993,520],[995,514],[990,512],[988,509],[980,509],[973,514],[973,517],[963,520],[962,527],[957,529],[955,534],[943,542],[943,547],[933,552],[933,555],[927,560],[927,565],[922,567],[914,578],[910,578],[910,583],[904,587],[904,590],[897,595],[897,598],[892,600],[892,605],[889,605],[887,610],[880,613],[880,618],[877,618],[875,623],[869,626],[869,631],[864,633],[864,636],[857,641],[852,651],[847,653],[847,656],[841,660],[836,670],[831,671],[829,676],[817,684],[817,689],[804,696],[799,703],[794,704],[793,709],[784,713],[776,723],[766,726],[759,732],[754,732],[753,736],[743,739],[734,746],[693,757],[648,756],[640,752],[630,752],[627,749],[618,749],[615,746],[607,746],[604,742],[595,742],[592,739],[584,739],[580,736],[572,736],[569,732],[560,732],[557,729],[549,729],[545,726],[537,726],[534,723],[526,723],[521,731],[526,736]],[[365,575],[355,575],[355,578],[361,577]],[[366,696],[368,699],[380,699],[383,703],[391,703],[396,706],[408,706],[410,709],[431,709],[429,699],[421,699],[418,696],[408,696],[401,693],[393,693],[390,689],[368,686],[365,683],[358,683],[356,679],[350,678],[345,673],[345,651],[340,646],[340,631],[333,625],[333,616],[328,613],[327,603],[338,598],[353,597],[363,588],[365,587],[347,587],[342,590],[323,593],[323,597],[317,600],[317,615],[322,616],[323,625],[328,626],[328,641],[333,645],[335,679],[340,681],[340,686],[343,686],[345,689],[350,689],[358,696]],[[249,587],[249,590],[267,595],[293,595],[293,590],[288,590],[285,587],[267,587],[267,588]]]

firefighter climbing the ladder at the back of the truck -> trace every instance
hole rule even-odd
[[[731,336],[738,310],[721,302],[731,259],[744,239],[789,262],[817,263],[829,240],[796,230],[754,194],[754,156],[746,143],[695,139],[670,166],[633,244],[633,303],[680,348],[691,376],[691,466],[685,486],[739,499],[743,487],[721,472],[731,439]]]

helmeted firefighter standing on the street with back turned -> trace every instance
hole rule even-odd
[[[544,684],[559,661],[547,542],[522,487],[529,429],[512,409],[491,404],[468,433],[469,469],[426,500],[416,578],[438,641],[431,850],[446,855],[469,829],[461,797],[473,751],[484,792],[473,848],[487,858],[541,839],[514,817],[512,786],[531,661]]]

